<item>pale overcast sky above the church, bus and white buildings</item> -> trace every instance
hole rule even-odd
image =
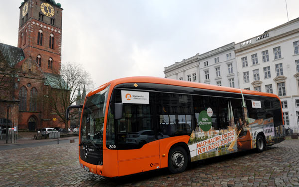
[[[19,6],[1,0],[0,42],[17,46]],[[286,23],[285,0],[55,0],[62,63],[77,62],[94,86],[128,76],[164,77],[164,67]],[[289,20],[299,0],[287,0]]]

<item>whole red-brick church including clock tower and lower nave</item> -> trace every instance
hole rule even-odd
[[[49,92],[59,89],[55,80],[61,80],[63,9],[54,0],[25,0],[19,8],[17,47],[0,43],[0,64],[13,69],[0,71],[0,77],[12,77],[2,82],[11,89],[0,89],[0,123],[5,123],[8,108],[8,122],[19,130],[64,128],[46,102]]]

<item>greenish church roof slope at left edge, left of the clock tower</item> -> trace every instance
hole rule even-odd
[[[10,46],[3,43],[0,43],[0,52],[2,53],[3,57],[10,67],[13,67],[15,64],[25,58],[22,48]]]

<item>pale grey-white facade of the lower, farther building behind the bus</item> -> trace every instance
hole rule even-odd
[[[165,78],[238,88],[235,43],[165,67]]]

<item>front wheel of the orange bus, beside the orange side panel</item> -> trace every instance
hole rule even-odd
[[[188,165],[188,155],[184,148],[174,147],[170,149],[168,155],[168,169],[171,173],[181,173]]]

